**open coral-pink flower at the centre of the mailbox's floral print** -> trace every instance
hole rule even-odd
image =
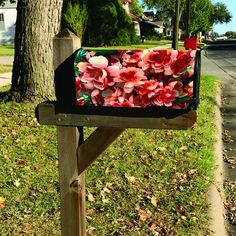
[[[124,67],[119,71],[119,77],[114,81],[122,83],[125,93],[131,93],[135,86],[139,86],[147,80],[144,72],[136,67]]]

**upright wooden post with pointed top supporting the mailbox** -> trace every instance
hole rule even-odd
[[[81,47],[80,39],[64,29],[53,40],[54,68]],[[77,149],[83,136],[77,127],[57,126],[62,236],[84,236],[85,174],[78,176]],[[80,132],[83,132],[81,129]]]

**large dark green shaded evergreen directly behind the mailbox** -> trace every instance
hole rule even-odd
[[[125,45],[136,41],[134,26],[120,0],[90,0],[83,45]]]

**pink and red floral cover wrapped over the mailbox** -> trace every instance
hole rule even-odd
[[[197,96],[196,56],[196,50],[80,49],[75,59],[76,104],[186,109]]]

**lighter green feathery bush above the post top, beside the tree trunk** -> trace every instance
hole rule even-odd
[[[66,1],[62,10],[62,25],[83,39],[87,25],[88,12],[84,1]]]

